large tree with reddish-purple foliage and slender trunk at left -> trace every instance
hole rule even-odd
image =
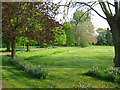
[[[12,42],[12,59],[15,59],[17,37],[27,36],[29,40],[51,43],[54,39],[52,29],[61,26],[54,20],[58,9],[52,2],[2,3],[2,33]]]

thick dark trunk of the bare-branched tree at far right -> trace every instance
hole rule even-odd
[[[120,22],[119,19],[112,20],[109,22],[111,27],[113,42],[114,42],[114,50],[115,50],[115,57],[114,57],[114,66],[120,67]]]

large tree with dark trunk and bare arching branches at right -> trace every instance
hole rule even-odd
[[[94,7],[95,5],[99,4],[103,13],[105,14],[105,17],[102,16],[100,12],[98,12]],[[79,1],[70,1],[67,5],[64,5],[68,7],[75,7],[77,8],[83,8],[87,7],[87,11],[93,10],[95,11],[100,17],[105,19],[110,28],[111,33],[113,37],[114,42],[114,49],[115,49],[115,58],[114,58],[114,66],[120,67],[120,0],[114,0],[114,3],[109,2],[108,0],[98,0],[93,2],[79,2]],[[114,8],[114,10],[111,10],[111,7]]]

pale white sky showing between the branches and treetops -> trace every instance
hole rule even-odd
[[[58,0],[58,1],[60,1],[60,0]],[[81,1],[91,1],[91,0],[81,0]],[[65,2],[65,0],[64,0],[64,2]],[[64,3],[62,2],[62,4],[64,4]],[[95,9],[98,12],[100,12],[101,15],[105,16],[99,5],[97,7],[95,7]],[[75,12],[75,9],[69,10],[67,16],[69,18],[72,18],[74,12]],[[91,16],[91,21],[92,21],[92,23],[94,25],[95,30],[97,28],[110,28],[109,25],[108,25],[108,23],[107,23],[107,21],[105,19],[103,19],[102,17],[98,16],[94,11],[91,11],[91,14],[93,15],[93,16]],[[62,17],[63,17],[62,14],[59,14],[58,16],[56,16],[56,18],[57,18],[58,21],[60,19],[63,19]],[[69,20],[67,19],[67,21],[69,21]]]

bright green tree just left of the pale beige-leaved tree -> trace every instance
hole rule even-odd
[[[71,45],[75,43],[75,37],[74,37],[74,31],[73,27],[70,22],[64,22],[63,27],[65,29],[65,34],[66,34],[66,44]]]

